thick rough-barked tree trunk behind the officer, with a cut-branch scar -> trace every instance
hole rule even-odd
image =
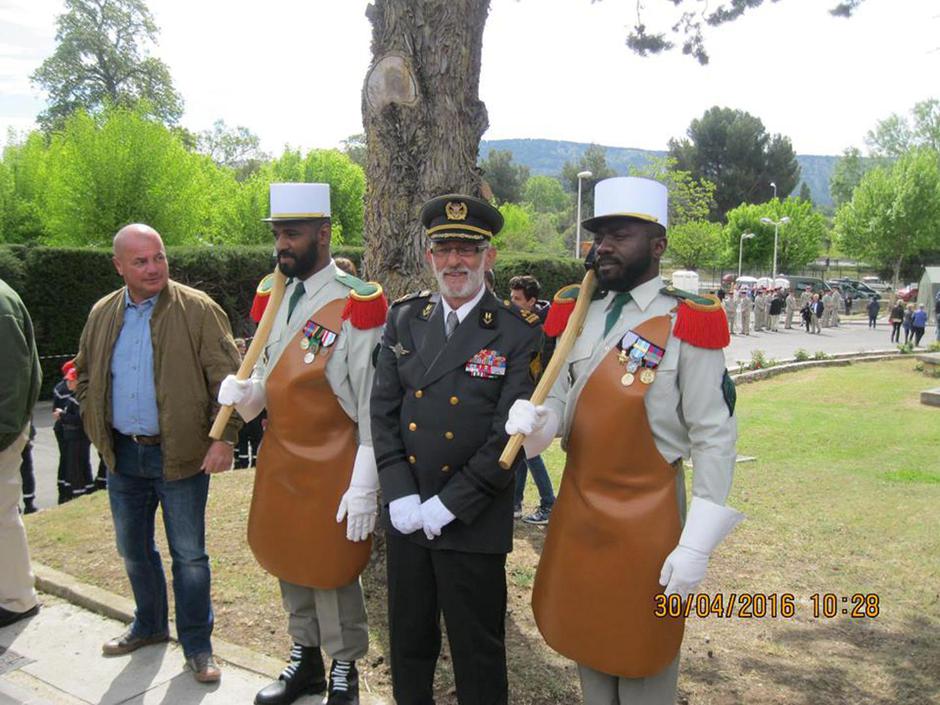
[[[477,151],[488,126],[480,54],[489,0],[375,0],[372,65],[362,90],[366,130],[366,275],[390,296],[430,281],[421,205],[479,196]]]

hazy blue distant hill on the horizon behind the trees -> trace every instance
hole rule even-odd
[[[480,159],[485,159],[492,149],[509,150],[513,161],[529,167],[533,174],[558,176],[567,161],[575,161],[590,145],[585,142],[563,142],[559,140],[483,140],[480,143]],[[665,151],[633,149],[631,147],[604,147],[607,163],[618,174],[626,175],[631,166],[643,166],[652,157],[664,157]],[[838,157],[815,154],[798,154],[800,178],[809,186],[813,202],[819,206],[832,207],[829,194],[829,177]],[[794,195],[800,192],[797,184]],[[781,196],[785,194],[780,194]]]

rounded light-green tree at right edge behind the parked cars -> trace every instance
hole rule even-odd
[[[839,245],[850,256],[894,272],[940,250],[940,156],[918,149],[873,169],[836,213]]]

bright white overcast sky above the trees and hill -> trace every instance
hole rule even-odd
[[[646,0],[654,11],[665,0]],[[634,0],[492,0],[480,95],[487,139],[549,138],[665,149],[713,105],[746,110],[800,154],[862,147],[893,112],[940,97],[940,3],[781,0],[711,29],[708,66],[624,45]],[[185,100],[183,124],[222,118],[265,149],[335,147],[362,131],[371,28],[362,0],[148,0],[153,53]],[[713,2],[712,5],[715,5]],[[0,0],[0,130],[30,128],[43,95],[29,75],[54,49],[59,0]],[[930,78],[933,76],[934,78]]]

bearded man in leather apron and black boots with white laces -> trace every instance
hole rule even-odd
[[[219,390],[248,421],[268,411],[248,542],[280,580],[294,645],[255,703],[326,690],[323,648],[333,659],[327,703],[348,705],[359,702],[356,660],[369,648],[359,574],[377,515],[369,393],[387,304],[379,285],[330,257],[328,184],[271,184],[267,222],[291,281],[251,379],[229,376]]]

